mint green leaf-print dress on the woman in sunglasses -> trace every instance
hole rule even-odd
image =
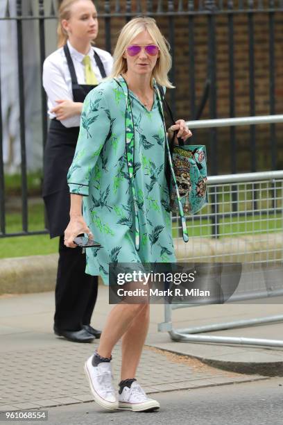
[[[87,248],[85,272],[108,285],[110,263],[174,263],[169,194],[164,173],[165,131],[157,94],[149,112],[129,96],[135,124],[135,212],[126,156],[126,98],[114,79],[87,95],[80,134],[68,172],[71,193],[82,194],[83,216],[101,248]]]

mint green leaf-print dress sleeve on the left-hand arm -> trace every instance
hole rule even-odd
[[[67,174],[70,193],[89,194],[89,180],[110,133],[110,110],[102,90],[87,94],[80,117],[80,133],[73,162]]]

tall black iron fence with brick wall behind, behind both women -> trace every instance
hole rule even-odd
[[[28,97],[37,92],[40,117],[36,124],[36,145],[43,154],[48,120],[42,85],[44,58],[55,50],[58,1],[0,0],[0,30],[4,23],[15,26],[17,92],[19,107],[20,172],[22,185],[22,231],[6,230],[5,158],[3,133],[6,115],[3,99],[7,88],[0,85],[0,236],[45,233],[28,225],[28,168],[26,114]],[[239,1],[96,1],[100,17],[98,45],[113,51],[117,32],[132,17],[144,14],[157,19],[171,45],[173,67],[170,78],[176,90],[169,101],[178,117],[215,119],[275,115],[283,108],[282,0]],[[34,26],[33,37],[25,31]],[[8,43],[11,42],[8,34]],[[1,34],[0,34],[1,38]],[[37,58],[35,83],[26,92],[24,50],[34,49]],[[0,43],[0,72],[1,69]],[[38,99],[40,98],[40,100]],[[211,128],[194,132],[194,143],[205,142],[209,153],[209,173],[237,173],[283,167],[282,124],[250,125],[246,130]],[[33,150],[33,149],[31,149]],[[42,156],[41,156],[42,164]],[[40,168],[41,168],[40,164]],[[43,227],[43,226],[42,226]]]

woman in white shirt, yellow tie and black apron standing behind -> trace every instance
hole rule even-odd
[[[60,236],[54,332],[76,342],[92,342],[101,334],[89,325],[98,278],[85,274],[85,254],[81,248],[65,247],[63,236],[70,209],[67,172],[76,149],[83,101],[112,70],[110,53],[91,44],[97,35],[92,0],[63,0],[59,8],[59,49],[46,58],[43,67],[51,119],[44,152],[43,198],[50,236]]]

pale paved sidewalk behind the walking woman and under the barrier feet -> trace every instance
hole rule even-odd
[[[262,311],[264,307],[264,312]],[[99,287],[93,325],[103,328],[112,306],[108,288]],[[137,378],[148,393],[225,385],[266,379],[259,374],[238,374],[216,369],[194,357],[234,358],[246,352],[247,360],[278,363],[282,349],[229,347],[214,344],[187,344],[171,341],[168,333],[158,333],[164,306],[151,306],[151,325],[147,347],[141,358]],[[219,322],[235,317],[280,314],[282,306],[206,306],[175,311],[176,327]],[[209,317],[209,319],[205,319]],[[93,352],[93,344],[76,344],[53,335],[53,292],[0,297],[0,409],[40,408],[92,401],[83,373],[83,363]],[[239,335],[260,334],[261,338],[280,338],[282,324],[229,331]],[[221,331],[221,334],[227,331]],[[219,332],[217,333],[219,334]],[[252,336],[252,335],[251,335]],[[166,351],[164,351],[166,350]],[[172,352],[185,354],[178,356]],[[188,357],[193,356],[193,358]],[[233,357],[234,356],[234,357]],[[119,382],[119,347],[113,353],[114,381]]]

